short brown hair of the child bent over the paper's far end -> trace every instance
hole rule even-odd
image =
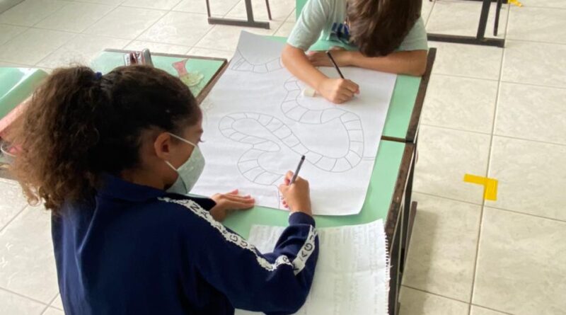
[[[421,0],[348,0],[350,40],[368,57],[391,54],[420,17]]]

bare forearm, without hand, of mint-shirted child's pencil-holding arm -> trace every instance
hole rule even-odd
[[[304,51],[299,48],[291,45],[285,46],[281,58],[284,66],[291,74],[316,90],[318,90],[320,83],[328,78],[308,61]]]

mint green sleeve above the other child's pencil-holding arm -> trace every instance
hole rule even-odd
[[[328,0],[308,0],[291,35],[287,38],[287,44],[301,50],[308,50],[320,37],[328,21],[329,12]]]

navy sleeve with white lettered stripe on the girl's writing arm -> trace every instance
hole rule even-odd
[[[195,268],[233,307],[268,315],[293,314],[302,307],[318,258],[313,217],[291,214],[273,252],[260,253],[207,212],[197,213],[187,244]]]

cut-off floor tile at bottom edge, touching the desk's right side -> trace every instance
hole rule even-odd
[[[402,287],[399,315],[468,315],[469,304]]]

